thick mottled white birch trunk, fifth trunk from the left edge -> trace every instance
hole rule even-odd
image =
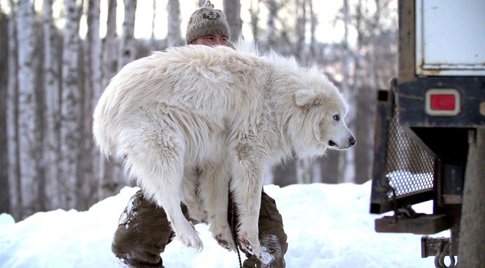
[[[79,69],[81,53],[79,39],[79,18],[82,8],[76,0],[64,0],[66,24],[63,41],[62,105],[61,105],[61,156],[62,193],[65,208],[75,208],[77,203],[77,182],[79,178],[82,145],[82,88]]]

